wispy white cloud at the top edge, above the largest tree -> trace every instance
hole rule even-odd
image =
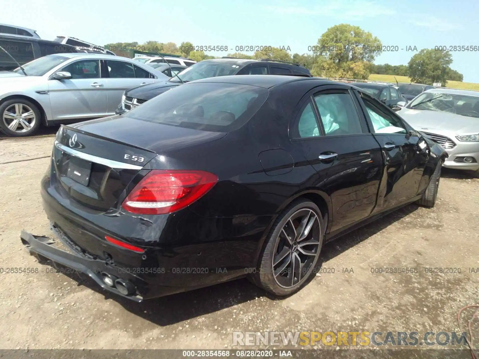
[[[304,6],[265,6],[265,10],[290,15],[321,15],[339,18],[341,20],[361,20],[383,15],[393,15],[389,9],[376,1],[367,0],[337,0],[324,1],[311,8]]]

